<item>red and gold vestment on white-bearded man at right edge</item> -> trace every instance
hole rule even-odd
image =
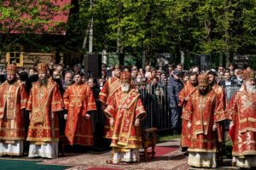
[[[233,156],[256,155],[256,93],[246,88],[230,100],[229,119],[235,123]]]

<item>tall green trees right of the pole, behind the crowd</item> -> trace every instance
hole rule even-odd
[[[255,48],[255,8],[254,0],[96,0],[90,14],[99,50],[107,43],[148,59],[183,51],[224,54],[231,62]]]

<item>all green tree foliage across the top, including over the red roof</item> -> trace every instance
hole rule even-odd
[[[1,22],[0,29],[7,35],[13,30],[9,26],[44,32],[40,29],[59,10],[50,3],[54,1],[37,1],[33,6],[27,4],[32,0],[16,0],[8,8],[0,2],[0,20],[9,20]],[[44,6],[49,11],[42,17]],[[224,55],[229,63],[234,54],[256,48],[255,24],[255,0],[79,0],[73,1],[62,49],[86,54],[93,25],[95,52],[145,54],[150,61],[157,53],[171,53],[178,60],[183,51],[186,56]]]

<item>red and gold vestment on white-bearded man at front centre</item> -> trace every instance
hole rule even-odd
[[[109,100],[105,115],[114,120],[111,147],[142,148],[140,127],[135,127],[134,122],[136,118],[143,119],[146,111],[135,89],[131,89],[128,93],[117,91]]]

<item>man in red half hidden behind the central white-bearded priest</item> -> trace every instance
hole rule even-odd
[[[121,88],[120,82],[120,72],[121,67],[120,65],[114,66],[114,77],[108,78],[105,82],[104,86],[102,87],[101,93],[99,94],[99,100],[102,102],[102,111],[104,111],[109,103],[109,99],[113,98],[113,94]],[[107,139],[112,138],[112,130],[109,127],[109,119],[105,119],[104,122],[104,133],[103,136]]]

